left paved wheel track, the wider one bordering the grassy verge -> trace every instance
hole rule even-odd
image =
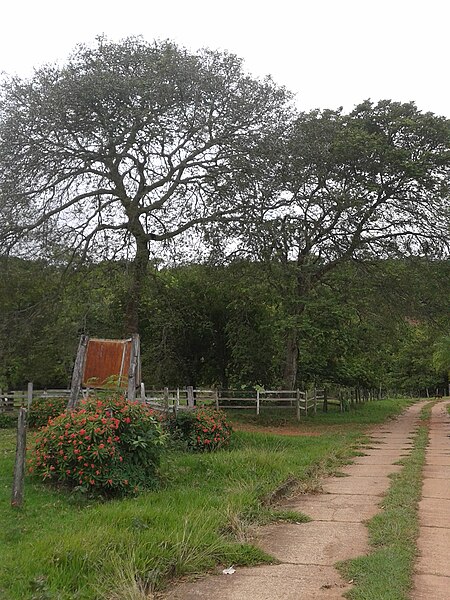
[[[337,600],[350,588],[334,564],[369,550],[364,521],[375,515],[387,491],[389,474],[411,448],[422,404],[372,435],[373,448],[342,469],[347,477],[324,481],[323,494],[292,499],[288,507],[313,521],[275,524],[259,530],[256,543],[279,564],[237,568],[233,575],[209,575],[176,586],[167,600]],[[448,457],[450,469],[450,455]],[[448,496],[450,498],[450,496]],[[450,502],[450,500],[449,500]],[[229,566],[229,565],[227,565]],[[449,573],[450,574],[450,573]],[[417,596],[417,598],[425,596]],[[427,596],[433,598],[434,596]],[[437,598],[437,597],[436,597]],[[448,596],[447,596],[448,598]]]

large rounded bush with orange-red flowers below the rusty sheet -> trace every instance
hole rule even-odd
[[[36,435],[29,470],[103,495],[136,493],[157,479],[164,436],[154,412],[125,399],[88,399]]]

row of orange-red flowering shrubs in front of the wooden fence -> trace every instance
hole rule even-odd
[[[30,411],[30,426],[46,424],[35,436],[29,472],[91,494],[153,487],[168,436],[194,451],[225,447],[231,437],[225,414],[209,408],[162,421],[145,404],[124,398],[90,398],[72,411],[57,400],[39,399]]]

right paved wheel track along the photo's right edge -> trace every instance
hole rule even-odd
[[[419,558],[413,600],[450,598],[450,418],[448,402],[431,413],[422,500],[419,504]]]

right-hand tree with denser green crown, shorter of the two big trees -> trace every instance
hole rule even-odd
[[[313,111],[255,164],[256,182],[240,182],[254,201],[234,233],[284,297],[283,382],[292,389],[308,295],[327,273],[354,259],[448,250],[449,121],[388,100]]]

